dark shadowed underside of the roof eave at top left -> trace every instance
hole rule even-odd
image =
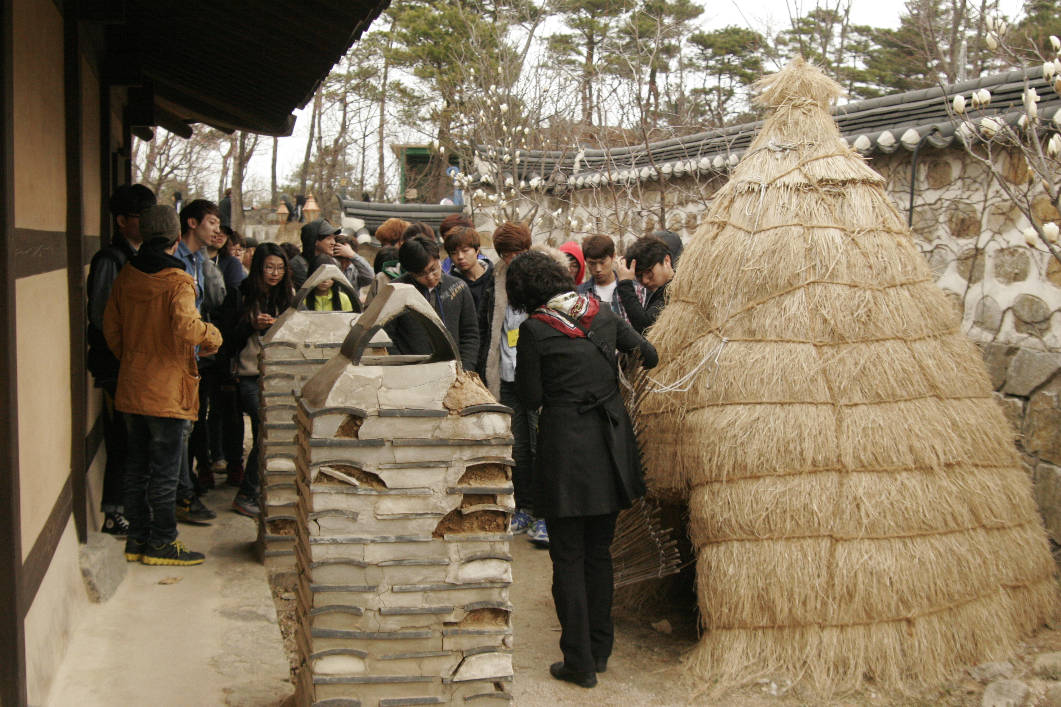
[[[291,135],[332,66],[389,0],[141,0],[115,5],[108,34],[116,84],[142,86],[145,118],[191,136],[189,123]],[[84,8],[83,8],[84,10]],[[120,74],[120,75],[117,75]]]

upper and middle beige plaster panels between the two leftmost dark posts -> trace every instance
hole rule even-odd
[[[15,226],[66,230],[63,18],[50,0],[15,5]],[[16,282],[22,555],[70,473],[66,270]]]

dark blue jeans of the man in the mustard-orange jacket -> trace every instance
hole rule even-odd
[[[177,538],[177,478],[187,460],[186,436],[191,421],[124,413],[128,430],[125,453],[127,537],[160,547]]]

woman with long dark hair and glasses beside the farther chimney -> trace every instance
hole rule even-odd
[[[230,347],[236,374],[236,391],[241,413],[250,417],[254,445],[243,470],[243,481],[232,501],[237,513],[258,515],[258,352],[260,339],[295,297],[291,284],[291,266],[288,255],[275,243],[262,243],[250,261],[250,272],[240,283],[239,313],[229,331],[224,332],[225,343]],[[242,420],[242,417],[241,417]]]

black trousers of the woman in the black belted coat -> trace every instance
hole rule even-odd
[[[615,640],[611,541],[618,516],[545,518],[560,651],[564,665],[576,672],[594,672],[596,659],[611,656]]]

